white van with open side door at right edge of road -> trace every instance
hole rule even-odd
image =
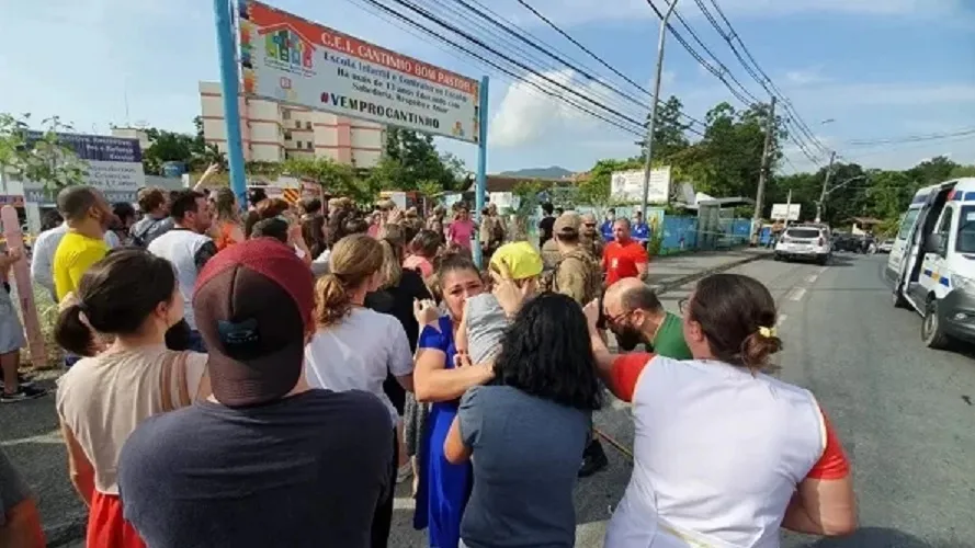
[[[932,349],[975,342],[975,178],[921,189],[900,219],[885,277],[894,306],[925,320]]]

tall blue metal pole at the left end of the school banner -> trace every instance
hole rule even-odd
[[[247,207],[247,175],[243,171],[243,146],[240,141],[240,107],[237,72],[237,43],[234,39],[231,0],[214,0],[217,28],[217,53],[220,58],[220,89],[224,95],[224,121],[227,124],[227,160],[230,164],[230,189],[240,207]]]

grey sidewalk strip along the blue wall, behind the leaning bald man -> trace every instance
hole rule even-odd
[[[767,256],[771,256],[771,252],[761,248],[664,255],[650,260],[647,283],[657,293],[666,293],[708,274],[734,269],[739,264]]]

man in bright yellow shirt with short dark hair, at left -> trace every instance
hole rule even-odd
[[[68,232],[54,253],[53,275],[57,299],[76,293],[81,276],[109,252],[105,230],[112,222],[112,208],[105,196],[91,186],[68,186],[57,196]]]

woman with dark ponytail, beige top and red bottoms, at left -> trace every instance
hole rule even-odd
[[[92,265],[60,311],[58,344],[89,356],[60,378],[56,403],[71,482],[89,509],[88,546],[145,546],[122,516],[118,453],[144,420],[209,391],[206,355],[166,347],[167,330],[182,318],[172,264],[138,249]],[[99,335],[113,339],[101,352]]]

